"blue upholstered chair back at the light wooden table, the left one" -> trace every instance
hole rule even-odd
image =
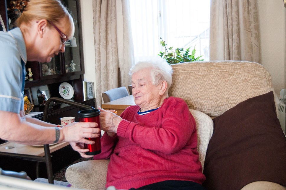
[[[102,98],[103,98],[104,103],[117,100],[125,96],[129,96],[126,87],[114,88],[114,89],[107,90],[102,93]]]

